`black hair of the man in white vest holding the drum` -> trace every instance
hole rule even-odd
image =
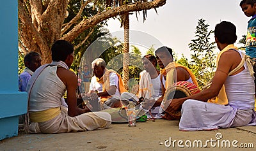
[[[215,26],[215,37],[220,43],[233,44],[237,40],[236,26],[231,22],[223,21]]]

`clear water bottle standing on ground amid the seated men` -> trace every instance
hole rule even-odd
[[[135,105],[132,101],[129,101],[127,106],[127,117],[128,117],[128,126],[135,127],[136,126],[136,110]]]

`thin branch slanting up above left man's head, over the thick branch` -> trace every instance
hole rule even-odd
[[[76,17],[72,18],[72,20],[70,20],[70,22],[68,22],[67,24],[65,24],[65,27],[63,27],[63,29],[61,29],[61,36],[73,25],[77,23],[77,20],[79,20],[81,18],[81,14],[83,13],[84,7],[90,3],[90,1],[92,0],[88,0],[85,3],[82,1],[81,4],[81,8],[78,11]]]

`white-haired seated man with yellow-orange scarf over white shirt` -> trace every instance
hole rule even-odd
[[[106,62],[97,58],[92,62],[94,76],[86,96],[92,100],[100,97],[102,109],[122,107],[120,94],[125,91],[121,76],[111,69],[106,68]],[[95,95],[95,92],[97,95]]]

